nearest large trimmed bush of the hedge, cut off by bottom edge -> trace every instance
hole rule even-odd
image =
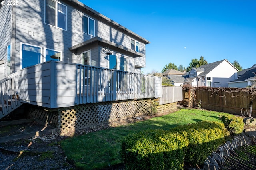
[[[121,156],[127,169],[182,170],[186,146],[177,132],[148,130],[124,138]]]

